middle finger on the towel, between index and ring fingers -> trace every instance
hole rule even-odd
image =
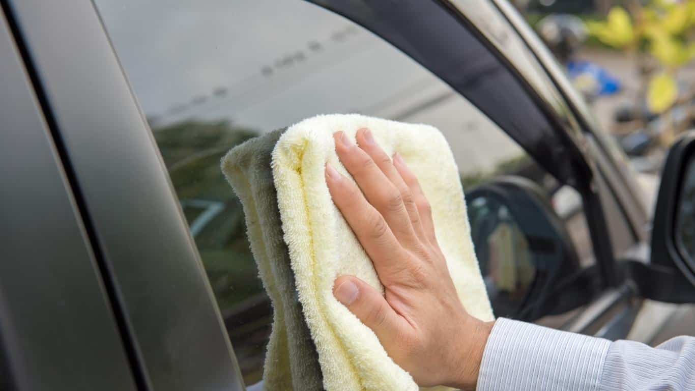
[[[369,203],[384,216],[396,239],[401,244],[414,243],[417,240],[415,231],[400,191],[391,184],[367,152],[354,145],[342,131],[334,134],[334,138],[341,162],[352,174]]]

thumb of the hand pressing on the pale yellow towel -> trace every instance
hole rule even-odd
[[[382,294],[354,276],[340,276],[333,285],[333,295],[363,324],[371,328],[382,344],[404,326],[404,319],[396,313]]]

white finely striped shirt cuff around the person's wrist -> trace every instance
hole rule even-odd
[[[499,318],[477,390],[599,390],[610,341]]]

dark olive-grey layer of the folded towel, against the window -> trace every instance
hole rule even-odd
[[[323,389],[318,354],[295,293],[270,168],[272,148],[283,131],[272,131],[234,147],[222,159],[222,171],[243,205],[251,250],[273,308],[264,388],[315,391]]]

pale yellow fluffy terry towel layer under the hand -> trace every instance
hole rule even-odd
[[[493,319],[473,251],[459,170],[434,127],[354,114],[320,115],[290,127],[272,152],[282,229],[325,389],[417,390],[373,331],[333,296],[333,282],[343,274],[384,292],[370,258],[332,202],[324,177],[325,164],[330,163],[352,178],[338,161],[332,134],[344,131],[354,140],[361,127],[372,131],[386,153],[400,153],[417,175],[432,205],[436,237],[461,303],[473,316]]]

